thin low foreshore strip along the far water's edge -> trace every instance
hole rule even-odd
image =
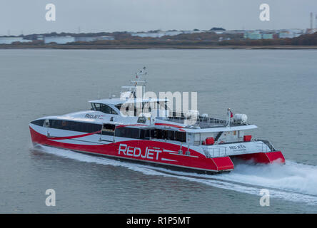
[[[69,50],[87,50],[87,49],[317,49],[317,46],[296,46],[296,45],[276,45],[276,46],[239,46],[239,45],[100,45],[100,44],[49,44],[49,45],[0,45],[0,49],[69,49]]]

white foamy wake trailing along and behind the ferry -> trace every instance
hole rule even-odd
[[[237,164],[232,172],[219,175],[203,175],[188,172],[171,171],[164,168],[149,167],[130,162],[120,162],[105,157],[84,155],[79,152],[53,147],[39,146],[41,152],[67,157],[81,162],[94,162],[101,165],[113,165],[142,172],[145,175],[162,175],[182,180],[199,182],[204,185],[226,190],[259,195],[261,189],[270,190],[271,197],[305,202],[317,205],[317,167],[286,161],[286,165],[248,165]]]

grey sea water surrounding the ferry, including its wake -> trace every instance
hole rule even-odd
[[[0,50],[0,212],[316,213],[316,60],[313,50]],[[147,90],[196,91],[201,113],[246,113],[286,165],[195,175],[32,147],[31,120],[89,109],[143,66]]]

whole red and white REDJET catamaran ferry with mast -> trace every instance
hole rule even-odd
[[[188,113],[168,108],[167,99],[136,98],[136,86],[123,86],[120,98],[90,100],[91,110],[46,116],[31,121],[34,145],[59,147],[117,160],[203,173],[233,170],[233,158],[256,163],[285,163],[281,151],[268,140],[254,140],[246,132],[257,128],[245,114],[227,110],[228,118],[213,118],[196,111],[194,124]],[[123,108],[127,105],[127,108]],[[147,106],[146,113],[123,115],[129,105]],[[139,105],[139,106],[138,106]],[[191,113],[192,114],[192,113]]]

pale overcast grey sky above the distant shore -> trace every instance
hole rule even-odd
[[[46,4],[56,21],[46,21]],[[260,21],[259,6],[271,9]],[[1,0],[0,35],[66,31],[149,31],[155,29],[278,29],[316,27],[317,0]]]

